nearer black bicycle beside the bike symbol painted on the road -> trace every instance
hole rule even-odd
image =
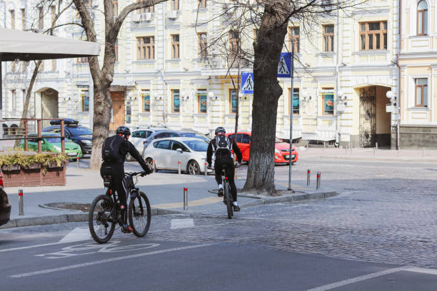
[[[144,172],[124,173],[124,181],[126,183],[126,199],[130,197],[128,205],[129,225],[132,232],[137,237],[143,237],[149,231],[151,221],[151,210],[149,199],[144,192],[136,188],[138,181],[137,175],[144,176]],[[104,176],[104,186],[106,194],[97,196],[89,210],[88,225],[89,232],[96,242],[108,242],[116,224],[122,221],[120,213],[119,196],[116,191],[112,190],[112,176]]]

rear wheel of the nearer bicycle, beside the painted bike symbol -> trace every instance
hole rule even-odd
[[[108,242],[114,234],[116,226],[116,221],[113,219],[114,211],[114,201],[107,195],[99,195],[91,203],[88,226],[96,242]]]

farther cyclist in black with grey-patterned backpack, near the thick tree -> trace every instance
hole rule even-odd
[[[240,211],[240,207],[237,203],[237,191],[235,181],[233,180],[233,175],[235,173],[235,166],[233,165],[233,153],[236,154],[238,163],[241,164],[243,160],[243,155],[241,155],[241,150],[238,148],[237,144],[232,138],[225,136],[226,130],[223,127],[216,128],[216,138],[213,138],[209,142],[208,150],[206,150],[206,162],[209,168],[211,168],[212,155],[216,155],[214,162],[214,170],[216,172],[216,181],[218,184],[218,196],[223,196],[223,185],[221,184],[221,170],[223,165],[228,165],[226,169],[226,175],[228,176],[228,182],[231,186],[231,194],[233,200],[233,211]]]

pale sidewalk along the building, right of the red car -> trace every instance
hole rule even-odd
[[[437,150],[422,148],[388,150],[375,148],[305,148],[299,147],[299,158],[322,158],[326,160],[390,160],[408,162],[437,162]]]

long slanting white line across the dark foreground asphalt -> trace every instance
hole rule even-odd
[[[65,271],[65,270],[76,269],[78,267],[89,267],[89,266],[93,266],[93,265],[104,264],[106,262],[116,262],[119,260],[128,260],[128,259],[132,259],[132,258],[136,258],[136,257],[144,257],[146,255],[158,255],[158,254],[162,254],[164,252],[176,252],[178,250],[190,250],[190,249],[194,249],[194,248],[198,248],[198,247],[207,247],[209,245],[214,245],[214,244],[213,243],[204,243],[201,245],[189,245],[187,247],[174,247],[174,248],[166,249],[166,250],[156,250],[154,252],[143,252],[141,254],[126,255],[123,257],[111,257],[110,259],[105,259],[105,260],[97,260],[94,262],[84,262],[82,264],[69,265],[69,266],[65,266],[65,267],[56,267],[54,269],[46,269],[46,270],[40,270],[40,271],[35,271],[35,272],[26,272],[26,273],[22,273],[22,274],[18,274],[18,275],[11,275],[9,277],[11,277],[11,278],[30,277],[30,276],[35,276],[35,275],[48,274],[48,273],[52,273],[52,272],[60,272],[60,271]]]

